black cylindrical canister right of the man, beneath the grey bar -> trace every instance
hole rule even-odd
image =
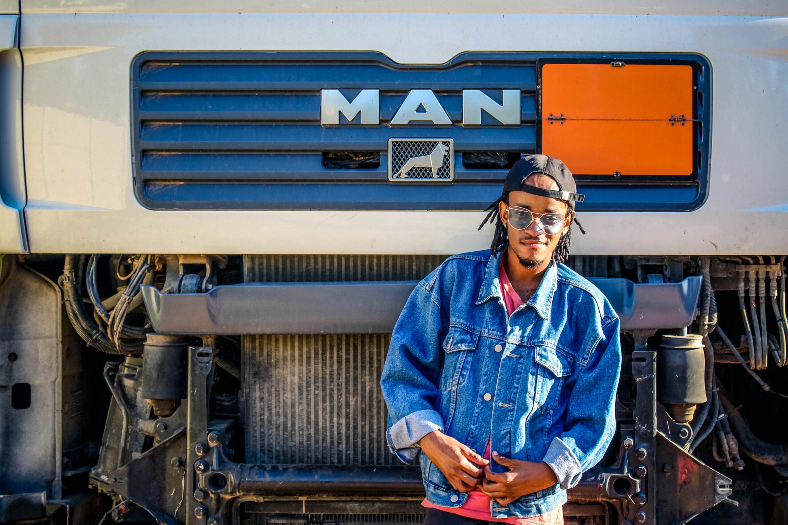
[[[657,361],[660,403],[671,417],[686,423],[706,402],[705,358],[700,335],[663,335]]]

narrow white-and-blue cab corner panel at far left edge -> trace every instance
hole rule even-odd
[[[7,2],[6,2],[7,3]],[[6,5],[0,3],[0,12]],[[22,57],[17,15],[0,15],[0,253],[25,253]]]

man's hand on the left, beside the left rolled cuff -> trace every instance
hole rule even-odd
[[[481,484],[481,476],[485,473],[482,467],[488,465],[489,460],[441,431],[430,432],[418,443],[459,492],[470,492]]]

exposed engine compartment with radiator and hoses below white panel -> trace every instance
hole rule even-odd
[[[420,472],[388,452],[379,379],[396,301],[444,258],[6,257],[4,316],[39,301],[17,289],[22,275],[49,281],[50,295],[59,279],[63,312],[47,319],[68,342],[62,355],[82,363],[61,376],[82,392],[68,411],[83,424],[59,476],[9,482],[3,469],[3,490],[43,487],[50,505],[117,522],[420,523]],[[783,262],[571,257],[619,312],[624,363],[616,436],[570,491],[567,523],[782,523]],[[362,287],[377,287],[372,303]],[[310,302],[315,312],[294,319]],[[3,367],[30,358],[15,356]],[[0,393],[20,420],[23,383],[6,378]],[[19,425],[5,439],[34,432]],[[40,482],[57,478],[59,494]],[[57,521],[47,512],[35,519]]]

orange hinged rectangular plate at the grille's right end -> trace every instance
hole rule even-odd
[[[689,65],[545,64],[541,152],[575,175],[692,176],[693,79]]]

